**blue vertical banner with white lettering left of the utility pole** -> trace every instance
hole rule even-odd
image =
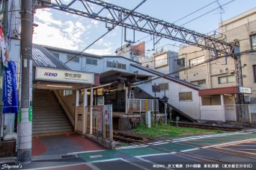
[[[18,113],[18,94],[16,90],[16,66],[13,61],[8,62],[4,69],[3,82],[3,113]]]

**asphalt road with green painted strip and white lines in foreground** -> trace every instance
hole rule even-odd
[[[129,145],[1,169],[256,169],[256,130]],[[22,167],[20,167],[22,166]]]

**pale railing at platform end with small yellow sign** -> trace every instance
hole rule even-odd
[[[155,111],[154,99],[128,99],[128,112]],[[156,100],[156,112],[159,112],[159,101]]]

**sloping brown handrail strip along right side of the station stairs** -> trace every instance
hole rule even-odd
[[[62,108],[64,109],[65,113],[67,114],[68,118],[70,119],[70,122],[72,125],[75,125],[75,112],[70,108],[69,104],[67,104],[67,101],[65,100],[64,96],[61,94],[60,90],[53,90],[55,95],[58,98],[58,101],[60,102]]]

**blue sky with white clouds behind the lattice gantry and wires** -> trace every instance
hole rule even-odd
[[[52,2],[54,1],[55,0],[52,0]],[[68,3],[71,0],[61,1],[63,3]],[[141,2],[141,0],[109,0],[108,2],[132,10]],[[219,8],[217,2],[221,5],[225,4],[222,6],[222,9]],[[210,5],[204,7],[208,4]],[[201,7],[204,7],[204,9],[199,10]],[[183,25],[186,22],[201,16],[198,19],[183,25],[183,27],[202,34],[207,34],[210,31],[218,29],[221,19],[222,21],[231,19],[254,7],[256,7],[255,0],[147,0],[141,7],[138,7],[136,12],[152,16],[156,19],[162,19],[166,22],[174,23],[175,25]],[[81,9],[79,6],[77,6],[77,8]],[[93,7],[93,10],[97,10],[97,7]],[[183,16],[186,16],[195,10],[199,11],[185,19],[181,19]],[[210,12],[211,10],[213,11]],[[176,22],[178,19],[181,20]],[[97,38],[107,31],[106,25],[103,22],[98,22],[94,19],[88,19],[81,16],[74,16],[70,13],[52,9],[37,10],[37,13],[34,16],[34,22],[38,24],[38,27],[34,29],[34,43],[76,51],[82,51],[90,45],[91,42],[97,40]],[[126,43],[121,41],[121,32],[122,28],[116,27],[115,30],[111,31],[106,37],[103,37],[103,39],[100,39],[85,52],[92,54],[115,54],[115,49]],[[141,42],[144,40],[147,42],[146,50],[152,49],[152,37],[142,39],[143,37],[147,37],[147,34],[141,32],[135,33],[135,41],[140,40],[138,42]],[[132,37],[130,37],[130,39],[132,39]],[[157,44],[157,47],[165,44],[173,45],[173,50],[177,51],[177,46],[180,43],[162,39]]]

